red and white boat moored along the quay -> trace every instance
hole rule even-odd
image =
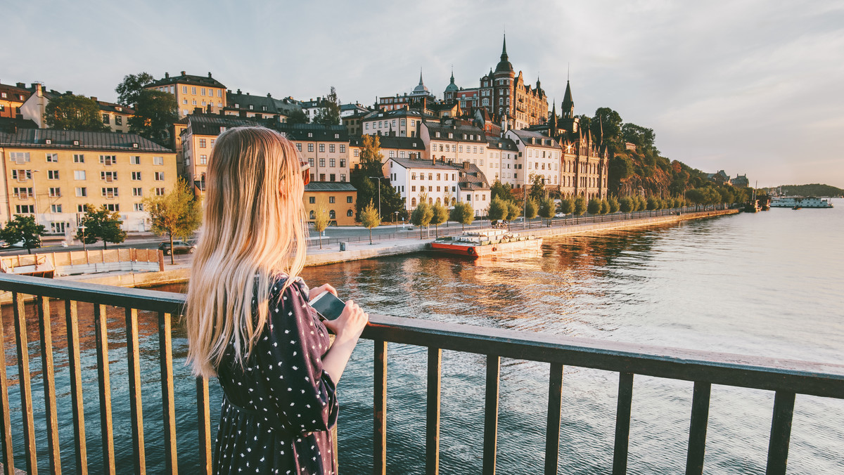
[[[505,229],[463,231],[462,235],[443,236],[430,243],[433,251],[470,259],[500,256],[512,252],[538,251],[541,246],[542,238],[519,235]]]

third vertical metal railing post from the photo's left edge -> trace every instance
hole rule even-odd
[[[47,419],[47,446],[50,449],[50,472],[62,472],[62,454],[58,447],[58,416],[56,409],[56,379],[53,372],[52,328],[49,297],[35,297],[38,328],[41,331],[41,378],[44,382],[44,412]]]

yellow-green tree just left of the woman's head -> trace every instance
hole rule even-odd
[[[181,178],[166,195],[144,198],[143,208],[149,213],[153,232],[167,235],[170,239],[170,249],[173,249],[174,238],[190,239],[203,221],[202,204],[193,196],[187,181]],[[170,252],[170,264],[173,263],[173,253]]]

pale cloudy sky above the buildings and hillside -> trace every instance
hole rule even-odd
[[[214,73],[229,89],[344,102],[438,97],[498,62],[558,107],[651,127],[670,159],[776,186],[844,187],[844,2],[15,2],[0,82],[115,100],[127,73]]]

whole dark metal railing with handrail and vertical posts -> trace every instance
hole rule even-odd
[[[29,352],[24,320],[26,295],[34,296],[41,340],[41,375],[44,384],[47,442],[52,473],[61,472],[57,429],[56,386],[52,362],[50,305],[63,300],[68,335],[68,364],[73,398],[73,451],[79,473],[88,471],[83,411],[83,384],[79,359],[78,302],[93,303],[97,382],[100,399],[100,440],[103,452],[102,472],[114,473],[116,454],[111,420],[111,384],[106,305],[125,309],[128,355],[129,405],[132,419],[134,472],[146,470],[143,439],[141,378],[138,364],[138,310],[158,315],[160,360],[160,408],[165,437],[165,470],[176,473],[176,407],[174,403],[173,356],[170,332],[172,316],[178,315],[184,295],[144,289],[122,289],[91,283],[71,283],[43,278],[0,275],[0,290],[12,293],[14,335],[17,343],[19,392],[23,418],[24,456],[27,472],[37,471],[35,421],[30,383]],[[2,326],[2,321],[0,321]],[[0,327],[0,348],[3,348]],[[391,316],[371,316],[363,337],[374,341],[375,378],[373,387],[373,467],[375,473],[387,473],[387,344],[403,343],[428,348],[427,411],[425,429],[425,472],[439,470],[440,401],[442,350],[456,350],[486,355],[484,408],[483,473],[495,473],[498,438],[500,359],[522,359],[550,364],[548,418],[544,473],[558,471],[562,377],[565,365],[611,371],[619,374],[618,406],[615,417],[615,441],[612,472],[627,471],[630,409],[634,375],[657,376],[679,381],[694,381],[690,408],[689,442],[686,473],[702,473],[706,447],[706,427],[711,385],[726,385],[774,391],[771,437],[767,454],[767,473],[784,474],[791,435],[796,394],[844,398],[844,365],[809,363],[721,354],[680,348],[612,343],[585,338],[540,335],[533,332],[473,327]],[[116,382],[116,381],[115,381]],[[119,384],[119,383],[117,383]],[[199,453],[203,472],[211,472],[211,421],[208,406],[208,381],[197,379],[197,418]],[[14,473],[13,430],[8,400],[5,353],[0,352],[0,451],[5,473]],[[148,393],[149,394],[149,393]],[[609,469],[609,467],[608,467]]]

